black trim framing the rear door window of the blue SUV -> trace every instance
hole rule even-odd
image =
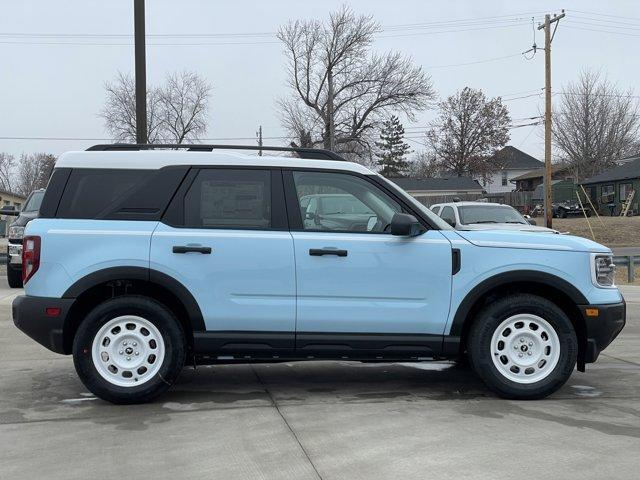
[[[269,228],[258,227],[196,227],[185,225],[184,202],[187,193],[191,189],[198,174],[202,170],[267,170],[271,173],[271,226]],[[176,191],[169,207],[165,211],[160,221],[173,228],[189,230],[246,230],[258,232],[288,232],[289,223],[287,216],[287,206],[284,198],[284,187],[282,182],[282,169],[280,167],[263,165],[192,165],[185,181]]]

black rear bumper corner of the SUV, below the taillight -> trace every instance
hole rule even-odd
[[[64,325],[72,298],[20,295],[12,304],[13,323],[36,342],[56,353],[69,353],[64,345]],[[59,314],[47,315],[47,309],[59,308]]]

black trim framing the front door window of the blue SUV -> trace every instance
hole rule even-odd
[[[293,172],[320,172],[320,173],[342,173],[345,175],[352,175],[357,178],[361,178],[366,182],[376,186],[384,193],[389,195],[392,200],[397,202],[402,208],[403,212],[410,213],[420,224],[427,230],[440,230],[437,225],[431,223],[428,217],[424,216],[422,212],[416,210],[411,204],[406,202],[402,195],[392,188],[392,185],[387,184],[383,180],[377,178],[376,175],[364,175],[359,172],[353,172],[350,170],[341,170],[335,168],[307,168],[307,167],[287,167],[282,169],[282,179],[284,181],[284,193],[287,203],[287,211],[289,216],[289,227],[291,232],[309,232],[309,233],[348,233],[353,235],[390,235],[389,232],[354,232],[351,230],[307,230],[304,228],[302,222],[302,213],[300,212],[300,206],[298,204],[298,194],[293,180]]]

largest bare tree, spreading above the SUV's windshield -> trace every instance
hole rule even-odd
[[[372,133],[391,113],[410,120],[435,94],[430,78],[409,58],[391,52],[369,54],[380,26],[370,16],[343,7],[327,23],[294,21],[280,28],[294,94],[280,102],[283,125],[314,146],[371,158]],[[300,129],[306,111],[311,120]],[[292,128],[293,126],[293,128]]]

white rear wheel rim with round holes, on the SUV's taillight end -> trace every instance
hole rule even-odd
[[[153,378],[165,355],[162,334],[135,315],[109,320],[93,339],[93,364],[102,378],[120,387],[134,387]]]

